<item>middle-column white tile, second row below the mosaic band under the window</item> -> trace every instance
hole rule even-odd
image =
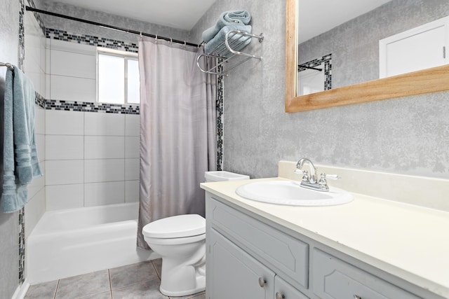
[[[125,155],[125,138],[110,136],[84,137],[85,159],[114,159]]]

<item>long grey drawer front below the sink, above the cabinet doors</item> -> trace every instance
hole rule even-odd
[[[294,286],[308,287],[309,245],[257,221],[217,200],[210,200],[208,221],[241,244],[255,258],[269,263]],[[290,278],[290,279],[289,279]]]

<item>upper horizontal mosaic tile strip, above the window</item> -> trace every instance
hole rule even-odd
[[[132,53],[138,53],[139,48],[137,43],[126,43],[125,41],[106,39],[104,37],[92,36],[87,34],[74,34],[72,32],[52,28],[46,28],[45,35],[47,39],[69,41],[70,43],[82,43],[84,45],[123,50]]]

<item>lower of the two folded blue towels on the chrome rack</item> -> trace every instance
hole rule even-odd
[[[220,31],[215,35],[215,37],[213,39],[211,39],[210,41],[208,41],[208,43],[206,43],[206,46],[204,46],[204,52],[206,54],[215,53],[215,54],[220,54],[224,57],[230,57],[232,55],[232,53],[229,52],[229,50],[227,50],[224,42],[225,42],[226,34],[229,31],[234,30],[234,29],[237,29],[236,26],[234,26],[234,25],[225,26],[222,29],[220,29]],[[250,25],[246,25],[244,27],[239,26],[239,30],[241,32],[251,33],[251,26]],[[239,51],[239,50],[245,48],[246,46],[248,46],[250,44],[251,39],[252,39],[249,36],[242,36],[242,34],[234,34],[233,35],[233,33],[229,34],[229,37],[230,37],[229,41],[228,41],[229,46],[234,51]]]

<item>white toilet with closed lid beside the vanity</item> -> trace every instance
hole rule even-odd
[[[232,172],[206,172],[207,181],[249,179]],[[167,296],[185,296],[206,289],[206,219],[197,214],[178,215],[148,223],[142,235],[162,257],[161,286]]]

